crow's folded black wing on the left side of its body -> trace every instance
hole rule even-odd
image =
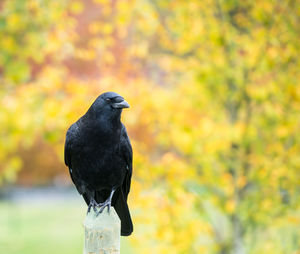
[[[73,150],[73,147],[76,145],[75,142],[77,139],[77,132],[78,132],[77,130],[78,130],[78,126],[76,123],[72,124],[71,127],[68,129],[67,134],[66,134],[64,156],[65,156],[65,164],[69,168],[71,179],[72,179],[73,183],[75,184],[78,192],[80,194],[83,194],[84,190],[82,188],[83,185],[81,183],[80,177],[79,177],[76,169],[73,168],[73,166],[72,166],[72,150]]]

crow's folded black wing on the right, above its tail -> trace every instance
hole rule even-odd
[[[127,195],[130,191],[131,176],[132,176],[132,147],[124,125],[121,130],[120,142],[121,154],[126,162],[126,175],[122,185],[123,193],[127,200]]]

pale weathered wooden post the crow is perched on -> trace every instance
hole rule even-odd
[[[84,220],[83,254],[120,254],[120,219],[113,207],[96,216],[93,209]]]

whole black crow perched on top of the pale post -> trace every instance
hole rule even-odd
[[[99,214],[106,206],[108,210],[113,206],[121,220],[121,235],[128,236],[133,231],[127,205],[132,148],[121,123],[123,108],[129,104],[119,94],[100,95],[68,129],[65,164],[88,212],[93,208]]]

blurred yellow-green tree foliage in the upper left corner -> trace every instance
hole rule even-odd
[[[40,133],[44,91],[37,75],[64,47],[65,4],[61,1],[9,0],[0,3],[0,182],[16,179],[20,146]],[[53,88],[55,89],[55,88]]]

